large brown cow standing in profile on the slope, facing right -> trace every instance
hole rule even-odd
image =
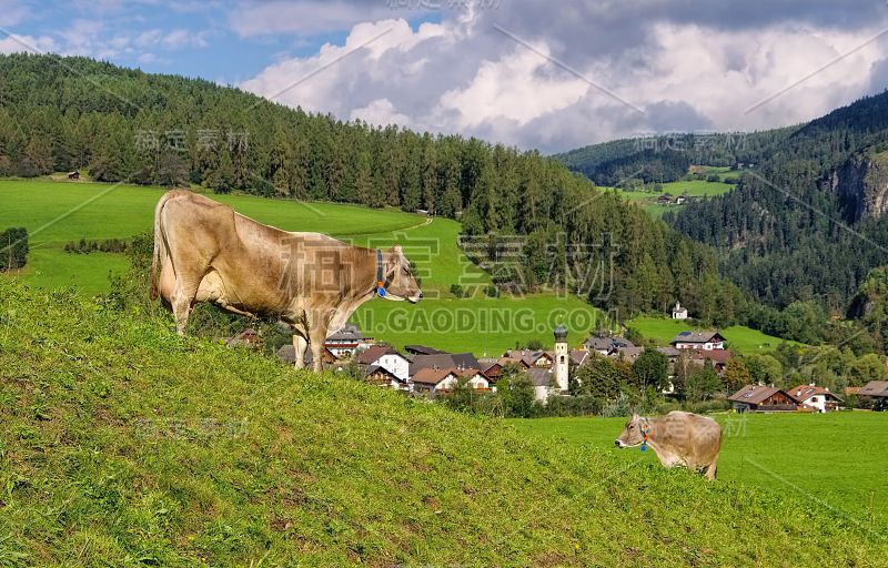
[[[154,211],[151,297],[169,304],[180,335],[195,302],[276,317],[293,328],[296,367],[311,346],[320,371],[329,331],[376,295],[377,278],[387,300],[422,298],[398,245],[382,252],[281,231],[182,190],[165,193]]]

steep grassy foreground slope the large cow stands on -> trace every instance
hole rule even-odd
[[[793,496],[525,438],[71,293],[0,282],[0,318],[7,566],[815,566],[888,554]]]

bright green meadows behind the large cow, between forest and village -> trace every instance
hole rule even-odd
[[[19,277],[44,288],[72,286],[87,295],[108,292],[109,275],[129,266],[124,255],[71,254],[62,247],[80,239],[127,239],[151,231],[154,205],[164,191],[88,182],[0,181],[0,227],[24,225],[31,233],[28,265]],[[461,226],[456,221],[350,204],[208,196],[287,231],[329,233],[361,246],[401,243],[416,265],[426,298],[416,305],[374,300],[354,316],[365,332],[397,347],[422,343],[496,356],[514,348],[516,342],[524,345],[538,339],[549,345],[558,321],[572,331],[571,344],[577,346],[599,324],[601,312],[575,296],[483,296],[480,288],[491,283],[490,275],[460,250],[456,239]],[[455,283],[467,290],[474,287],[476,293],[456,298],[450,293]],[[644,328],[642,333],[648,335]],[[675,333],[667,335],[668,342]],[[734,333],[738,341],[744,335],[743,328]],[[777,342],[773,339],[774,345]]]

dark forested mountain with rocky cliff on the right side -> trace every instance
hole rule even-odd
[[[664,220],[718,248],[723,274],[758,300],[844,311],[869,271],[888,263],[888,94],[791,128],[620,140],[555,158],[598,180],[615,164],[656,170],[658,154],[678,163],[676,149],[692,164],[754,164],[731,192]]]

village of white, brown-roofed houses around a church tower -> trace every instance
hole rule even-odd
[[[688,311],[676,302],[672,318],[687,321]],[[558,324],[553,329],[552,348],[515,348],[500,357],[476,357],[471,352],[448,353],[433,346],[407,344],[400,351],[365,335],[357,325],[346,324],[326,338],[324,368],[350,373],[365,383],[392,388],[428,400],[446,397],[457,385],[475,393],[496,393],[503,376],[525,375],[533,386],[534,399],[546,405],[552,397],[571,396],[571,381],[577,372],[596,358],[634,364],[645,349],[654,349],[667,361],[668,381],[659,389],[665,399],[678,399],[673,384],[678,366],[703,368],[709,365],[719,378],[724,377],[731,351],[716,329],[686,329],[668,345],[639,346],[609,331],[596,331],[583,341],[568,341],[568,329]],[[261,339],[248,328],[225,339],[229,346],[256,348]],[[276,349],[276,357],[287,364],[295,361],[292,345]],[[311,352],[309,352],[311,357]],[[306,363],[311,363],[311,358]],[[685,368],[685,374],[688,369]],[[816,382],[779,388],[774,384],[746,384],[733,394],[712,392],[708,396],[727,400],[731,410],[827,413],[844,408],[842,396],[862,397],[874,407],[888,405],[888,382],[870,381],[860,387],[847,387],[845,393],[830,392]]]

